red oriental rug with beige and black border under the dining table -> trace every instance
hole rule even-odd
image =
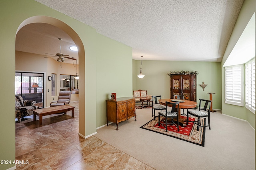
[[[184,116],[182,116],[184,117]],[[185,117],[184,117],[185,118]],[[189,120],[197,120],[197,117],[191,116],[188,118]],[[160,117],[161,123],[165,122],[164,117]],[[205,118],[201,118],[201,124],[205,125]],[[160,124],[158,126],[158,117],[156,120],[152,119],[142,127],[142,129],[146,129],[149,131],[153,131],[156,133],[160,133],[163,135],[167,135],[170,137],[174,137],[183,141],[187,141],[190,143],[194,143],[196,145],[200,145],[204,147],[204,137],[205,137],[205,127],[200,127],[199,131],[197,131],[197,125],[193,122],[189,122],[186,127],[179,126],[180,131],[178,131],[177,127],[175,125],[168,125],[167,132],[166,129]]]

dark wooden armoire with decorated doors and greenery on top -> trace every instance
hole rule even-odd
[[[196,75],[194,74],[169,74],[170,99],[173,95],[184,95],[184,100],[196,100]]]

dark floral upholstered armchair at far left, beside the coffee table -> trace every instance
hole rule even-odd
[[[33,110],[38,109],[38,106],[34,106],[36,101],[23,100],[21,96],[15,96],[15,114],[18,122],[23,119],[24,116],[33,114]]]

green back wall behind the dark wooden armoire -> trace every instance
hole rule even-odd
[[[144,57],[146,59],[146,57]],[[142,61],[142,73],[144,78],[136,75],[140,71],[140,61],[133,62],[133,76],[136,83],[133,90],[147,90],[148,94],[161,95],[162,98],[170,98],[170,76],[171,71],[197,71],[197,99],[210,99],[209,92],[213,92],[212,108],[221,109],[221,66],[220,62],[190,62],[190,61]],[[208,84],[202,89],[199,84]],[[198,100],[199,102],[199,100]]]

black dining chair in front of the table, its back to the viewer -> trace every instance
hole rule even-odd
[[[174,102],[174,103],[173,102],[165,102],[165,103],[166,103],[165,110],[158,113],[158,126],[160,126],[160,124],[161,124],[163,127],[165,127],[166,132],[167,132],[167,125],[168,124],[169,125],[174,124],[177,127],[178,131],[180,131],[179,121],[178,121],[179,120],[179,118],[178,118],[179,114],[178,114],[178,111],[176,111],[176,105],[178,105],[177,110],[179,110],[180,102]],[[169,108],[172,107],[172,110],[168,111],[168,107]],[[165,125],[160,122],[160,116],[165,117]],[[168,118],[171,118],[170,122],[167,121]],[[173,118],[177,119],[177,124],[174,123]]]

